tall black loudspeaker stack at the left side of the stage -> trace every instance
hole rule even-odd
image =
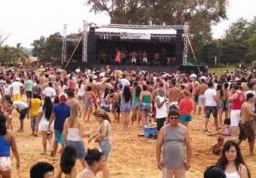
[[[87,60],[88,62],[96,62],[96,35],[95,27],[90,27],[87,38]]]

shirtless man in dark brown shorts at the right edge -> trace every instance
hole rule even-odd
[[[254,102],[254,95],[248,93],[246,95],[246,101],[241,107],[241,120],[239,122],[239,137],[238,144],[242,143],[242,140],[248,139],[250,156],[253,156],[254,149],[254,130],[253,130],[253,120],[252,117],[256,118],[256,113],[253,113],[252,105]]]

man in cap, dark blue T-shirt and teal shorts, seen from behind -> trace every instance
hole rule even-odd
[[[63,125],[65,120],[69,117],[70,108],[69,104],[66,104],[68,96],[65,93],[59,95],[59,104],[53,105],[53,112],[50,116],[50,121],[48,125],[48,131],[50,131],[50,125],[54,121],[54,143],[53,143],[53,158],[56,156],[56,151],[58,149],[58,143],[61,144],[61,152],[64,149],[64,141],[63,141]]]

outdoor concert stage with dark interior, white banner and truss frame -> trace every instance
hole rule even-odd
[[[81,68],[100,68],[101,65],[115,68],[117,65],[118,68],[173,71],[175,67],[167,65],[187,65],[188,30],[187,23],[184,26],[110,24],[96,27],[84,22],[83,32],[67,38],[64,26],[62,64],[68,69],[78,65]],[[144,51],[148,64],[142,60]],[[122,56],[120,64],[115,62],[117,52]],[[133,52],[137,66],[132,64]]]

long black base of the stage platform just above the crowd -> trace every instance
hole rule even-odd
[[[66,63],[64,63],[64,67],[66,66]],[[101,69],[103,67],[105,67],[106,65],[102,65],[102,64],[91,64],[89,62],[69,62],[69,65],[66,67],[67,71],[75,71],[75,69],[77,69],[78,67],[81,68],[81,70],[84,70],[84,68],[90,68],[90,70],[92,70],[93,68],[97,68],[97,69]],[[165,71],[165,72],[172,72],[175,71],[176,68],[175,67],[169,67],[169,66],[160,66],[160,65],[114,65],[114,64],[110,64],[109,67],[111,68],[111,70],[114,70],[115,68],[119,68],[121,70],[137,70],[139,68],[139,70],[142,71],[156,71],[156,72],[161,72],[161,71]]]

